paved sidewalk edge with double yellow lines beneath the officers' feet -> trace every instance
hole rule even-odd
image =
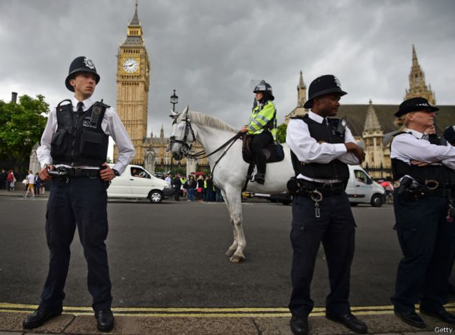
[[[65,307],[65,312],[45,325],[26,331],[23,318],[37,306],[0,303],[0,335],[103,334],[96,329],[90,307]],[[455,309],[455,304],[447,306]],[[392,306],[353,307],[368,326],[369,334],[452,334],[454,325],[423,316],[427,329],[400,321]],[[127,335],[292,335],[286,308],[114,308],[115,327],[110,334]],[[310,315],[310,334],[355,334],[328,321],[323,308]]]

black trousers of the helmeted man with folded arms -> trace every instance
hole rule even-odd
[[[314,201],[296,196],[292,203],[292,314],[307,316],[313,309],[310,285],[319,245],[323,243],[329,268],[330,294],[327,312],[350,312],[351,264],[354,258],[355,222],[347,195],[325,196],[320,203],[321,217],[315,217]]]

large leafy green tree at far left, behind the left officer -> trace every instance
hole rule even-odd
[[[42,95],[33,99],[19,97],[19,103],[0,100],[0,160],[12,162],[14,169],[24,167],[33,145],[45,128],[49,104]]]

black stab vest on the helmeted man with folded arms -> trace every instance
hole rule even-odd
[[[319,141],[325,141],[327,143],[345,143],[345,134],[337,134],[336,128],[338,128],[339,119],[328,119],[328,126],[310,119],[308,115],[297,116],[292,119],[301,119],[308,125],[310,136]],[[292,166],[296,175],[303,174],[310,178],[316,179],[341,179],[347,181],[349,179],[349,167],[346,163],[334,159],[330,163],[302,163],[297,158],[296,154],[291,150]]]

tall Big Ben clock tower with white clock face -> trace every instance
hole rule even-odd
[[[137,1],[134,16],[128,25],[125,42],[117,54],[117,114],[130,134],[136,154],[132,164],[143,165],[145,139],[147,137],[148,90],[150,61],[142,38],[141,23],[137,17]],[[119,151],[114,145],[114,161]]]

